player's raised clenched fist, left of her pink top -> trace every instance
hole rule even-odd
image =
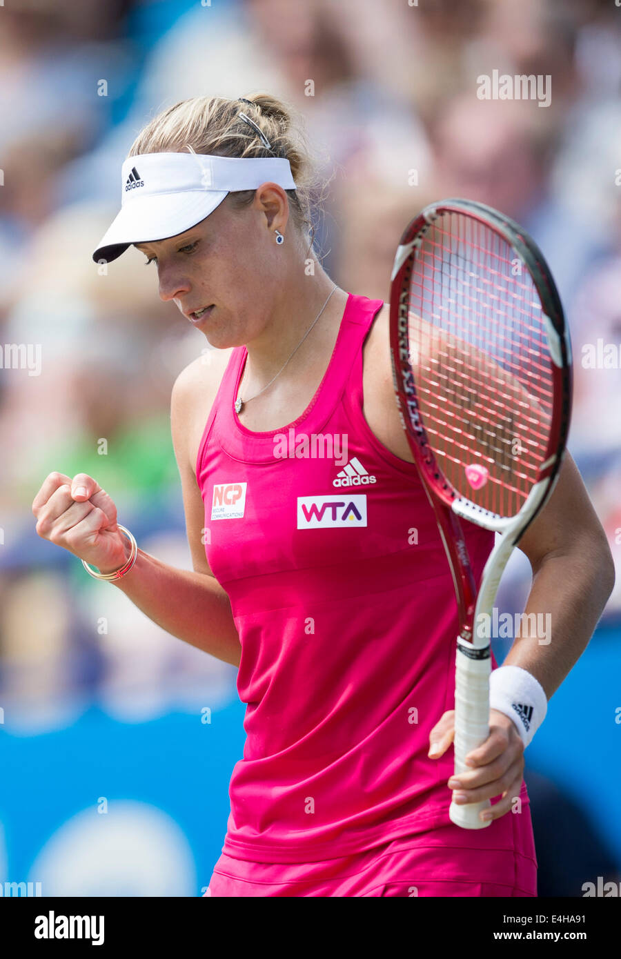
[[[116,506],[85,473],[73,479],[50,473],[33,501],[33,513],[42,539],[69,550],[100,573],[113,573],[128,558],[128,541],[116,525]]]

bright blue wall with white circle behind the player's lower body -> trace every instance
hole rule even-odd
[[[529,767],[583,808],[617,865],[620,640],[618,626],[598,629],[527,752]],[[88,702],[65,709],[54,731],[29,733],[26,713],[1,727],[0,881],[39,881],[43,896],[202,895],[227,828],[242,704],[231,699],[208,722],[182,712],[119,722]],[[577,875],[577,889],[590,878]]]

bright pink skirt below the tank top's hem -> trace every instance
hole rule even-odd
[[[485,830],[449,823],[322,862],[250,862],[223,853],[204,895],[537,896],[530,807]]]

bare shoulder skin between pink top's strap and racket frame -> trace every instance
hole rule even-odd
[[[387,449],[414,462],[394,398],[390,343],[390,303],[375,316],[363,348],[363,413],[370,429]]]

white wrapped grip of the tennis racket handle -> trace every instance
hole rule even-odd
[[[466,756],[490,735],[490,647],[483,659],[472,659],[457,643],[455,670],[455,775],[466,771]],[[491,820],[481,822],[479,813],[490,800],[458,806],[451,803],[448,818],[465,830],[483,830]]]

